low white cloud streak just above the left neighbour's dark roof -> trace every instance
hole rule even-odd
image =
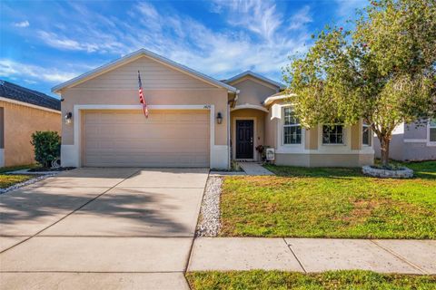
[[[78,73],[60,72],[57,69],[32,65],[28,63],[18,63],[9,59],[0,59],[0,75],[9,78],[25,78],[25,82],[65,82]]]

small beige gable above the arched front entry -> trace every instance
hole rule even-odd
[[[247,103],[261,105],[267,97],[278,92],[279,89],[271,83],[263,82],[252,76],[246,76],[229,84],[240,90],[236,105]]]

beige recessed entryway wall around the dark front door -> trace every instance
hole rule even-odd
[[[230,136],[232,140],[232,156],[233,159],[236,156],[234,140],[236,140],[236,120],[254,120],[254,160],[259,160],[259,154],[255,150],[258,145],[266,145],[265,140],[265,111],[242,109],[231,112],[232,125],[230,130]]]

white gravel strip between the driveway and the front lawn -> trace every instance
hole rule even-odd
[[[216,237],[221,229],[220,197],[223,177],[209,176],[195,237]]]

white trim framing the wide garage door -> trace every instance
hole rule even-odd
[[[82,156],[81,156],[81,111],[84,110],[141,110],[142,105],[99,105],[99,104],[88,104],[88,105],[74,105],[74,144],[73,145],[63,145],[63,146],[73,146],[68,148],[68,154],[64,154],[67,160],[65,163],[74,164],[70,166],[81,167],[82,166]],[[210,167],[211,168],[222,168],[223,165],[223,150],[228,150],[226,145],[215,145],[215,107],[213,104],[203,104],[203,105],[150,105],[150,110],[209,110],[210,111]],[[228,116],[227,116],[228,118]],[[224,148],[225,147],[225,148]],[[65,147],[66,148],[66,147]],[[227,155],[227,151],[225,152]],[[67,157],[68,156],[68,157]],[[74,161],[68,160],[74,158]],[[226,158],[224,158],[225,163],[228,163]],[[218,167],[216,165],[219,165]],[[228,164],[224,168],[228,168]]]

